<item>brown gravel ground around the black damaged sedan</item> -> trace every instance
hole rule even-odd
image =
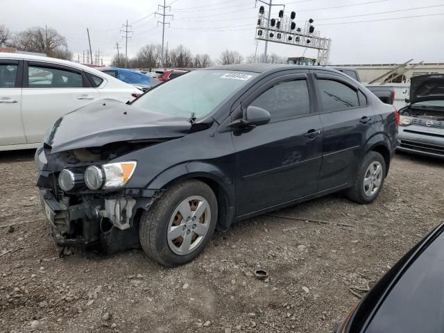
[[[0,332],[332,332],[358,300],[348,287],[380,278],[443,221],[443,167],[396,155],[372,205],[334,194],[274,213],[354,226],[259,216],[171,269],[142,250],[59,258],[33,152],[0,153]]]

